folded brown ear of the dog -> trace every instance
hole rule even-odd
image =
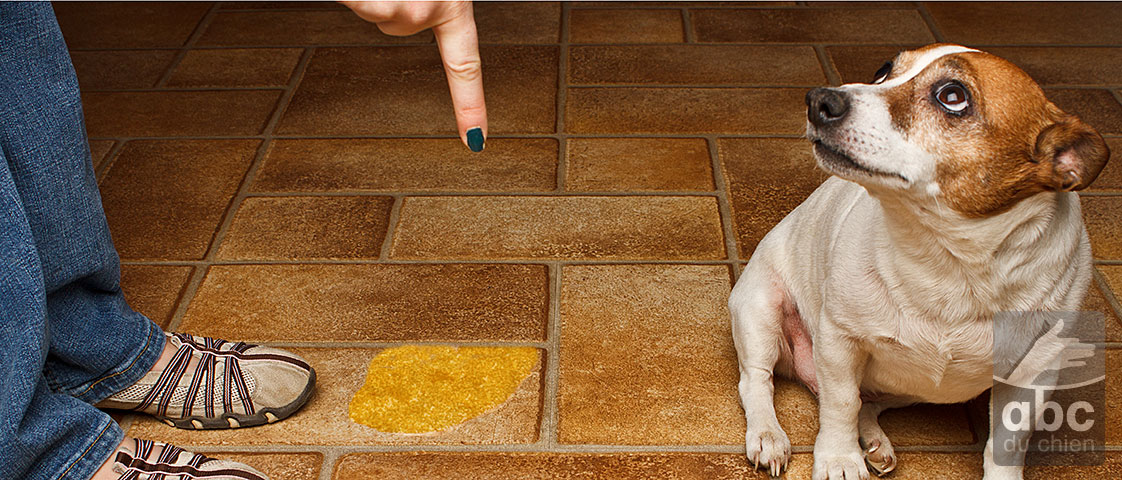
[[[1110,157],[1103,136],[1069,114],[1040,131],[1032,153],[1032,160],[1040,164],[1041,186],[1060,192],[1089,186]]]

